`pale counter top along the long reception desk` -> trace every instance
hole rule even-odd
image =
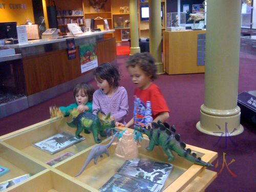
[[[84,37],[103,35],[105,33],[111,33],[114,31],[115,30],[86,32],[86,33],[83,33],[81,35],[76,35],[76,36],[57,37],[57,38],[52,38],[52,39],[36,39],[36,40],[29,40],[26,44],[13,44],[13,45],[4,45],[4,46],[9,47],[9,48],[25,48],[25,47],[32,47],[32,46],[38,46],[38,45],[53,44],[54,42],[66,41],[66,39],[69,39],[69,38],[79,39],[79,38],[84,38]]]

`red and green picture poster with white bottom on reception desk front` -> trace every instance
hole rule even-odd
[[[79,46],[81,73],[98,67],[96,42]]]

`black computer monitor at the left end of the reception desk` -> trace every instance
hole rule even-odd
[[[17,38],[17,22],[0,23],[0,39]]]

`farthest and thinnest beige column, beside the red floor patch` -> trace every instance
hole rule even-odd
[[[116,0],[118,1],[118,0]],[[138,25],[138,3],[137,0],[130,0],[130,36],[131,48],[130,55],[140,53],[139,47],[139,25]]]

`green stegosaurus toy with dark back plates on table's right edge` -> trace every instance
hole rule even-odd
[[[158,129],[160,127],[160,129]],[[160,145],[165,154],[168,156],[168,161],[174,160],[174,155],[171,151],[176,152],[179,156],[191,161],[193,163],[203,165],[206,167],[213,167],[211,163],[206,163],[197,158],[196,153],[191,154],[190,148],[185,148],[186,144],[180,141],[180,134],[175,134],[176,128],[173,125],[169,129],[169,125],[166,123],[153,122],[151,129],[145,129],[142,126],[134,126],[136,131],[144,133],[150,139],[149,145],[146,148],[148,151],[152,151],[155,145]]]

